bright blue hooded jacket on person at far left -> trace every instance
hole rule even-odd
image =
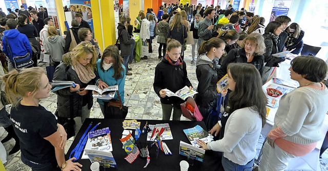
[[[7,48],[7,42],[5,37],[7,37],[7,41],[11,50]],[[30,53],[32,56],[32,48],[29,42],[29,39],[25,34],[19,33],[16,29],[6,30],[4,31],[4,37],[2,39],[3,43],[3,51],[12,61],[12,57],[15,56],[24,56],[26,53]]]

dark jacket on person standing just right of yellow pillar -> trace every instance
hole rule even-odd
[[[130,39],[130,35],[124,25],[119,23],[117,30],[120,43],[119,45],[121,48],[121,56],[129,56],[131,54],[131,44],[134,43],[134,40]]]

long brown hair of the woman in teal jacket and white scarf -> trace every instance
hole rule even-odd
[[[124,71],[124,69],[122,67],[123,60],[122,60],[121,56],[119,55],[117,46],[110,45],[110,46],[107,46],[107,48],[104,50],[104,53],[101,56],[101,61],[100,61],[100,69],[103,71],[105,71],[103,64],[104,64],[105,57],[107,57],[107,56],[111,56],[113,58],[113,68],[114,68],[113,78],[115,80],[121,79],[122,71]]]

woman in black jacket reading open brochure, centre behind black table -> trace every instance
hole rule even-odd
[[[170,120],[173,108],[173,120],[180,120],[182,110],[180,104],[184,101],[178,97],[168,97],[165,89],[176,92],[188,86],[193,90],[187,75],[187,66],[181,59],[181,44],[175,39],[168,39],[166,54],[155,68],[154,90],[160,98],[163,118]]]

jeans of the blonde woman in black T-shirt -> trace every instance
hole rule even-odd
[[[59,167],[57,167],[57,161],[54,159],[52,162],[49,163],[35,163],[30,160],[28,160],[23,154],[20,155],[20,159],[22,162],[30,167],[32,167],[32,171],[54,171],[54,170],[60,170]]]

